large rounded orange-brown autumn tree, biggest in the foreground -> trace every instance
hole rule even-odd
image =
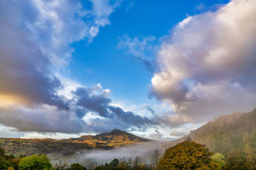
[[[184,141],[170,147],[159,161],[157,169],[214,169],[209,149],[193,141]]]

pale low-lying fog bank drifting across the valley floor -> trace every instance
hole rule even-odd
[[[92,169],[93,166],[109,163],[115,158],[125,158],[126,160],[131,158],[134,160],[135,157],[138,156],[140,157],[141,162],[151,163],[152,155],[156,149],[160,154],[163,154],[165,150],[161,143],[154,142],[133,146],[123,146],[112,150],[83,150],[70,156],[58,154],[49,154],[47,156],[51,159],[52,164],[56,164],[60,161],[67,162],[68,164],[79,163],[87,169]]]

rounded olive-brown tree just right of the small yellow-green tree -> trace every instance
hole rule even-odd
[[[225,169],[246,169],[246,157],[243,150],[238,148],[228,153]]]

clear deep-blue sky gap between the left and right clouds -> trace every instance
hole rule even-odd
[[[131,53],[118,49],[118,37],[155,36],[154,45],[168,35],[172,27],[188,15],[216,10],[216,4],[228,1],[124,1],[110,15],[111,24],[100,28],[92,43],[86,40],[73,43],[76,48],[68,71],[72,79],[92,86],[101,83],[111,89],[115,97],[131,99],[135,103],[148,102],[150,81],[154,73],[135,60]],[[204,9],[197,9],[204,4]],[[129,8],[129,6],[131,6]],[[129,8],[129,9],[127,9]],[[151,57],[156,53],[152,52]],[[134,83],[136,82],[136,83]]]

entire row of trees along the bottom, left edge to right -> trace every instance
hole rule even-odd
[[[107,164],[95,166],[95,170],[162,170],[162,169],[256,169],[256,143],[253,137],[254,131],[248,133],[244,140],[247,141],[244,149],[236,148],[227,154],[213,153],[200,143],[186,141],[178,143],[175,146],[167,148],[161,157],[158,150],[154,150],[150,157],[150,164],[143,162],[140,157],[135,159],[113,159]],[[253,137],[253,138],[252,138]],[[52,166],[45,155],[32,155],[29,157],[15,158],[13,155],[6,155],[3,149],[0,149],[0,169],[56,169],[56,170],[84,170],[85,167],[80,164],[67,164],[59,162]]]

